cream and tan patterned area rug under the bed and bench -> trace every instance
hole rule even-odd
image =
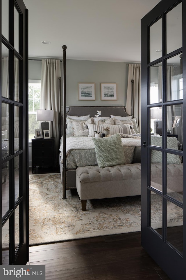
[[[158,228],[161,206],[153,205],[152,225]],[[87,200],[86,209],[76,190],[67,190],[62,199],[60,174],[29,175],[30,245],[141,230],[140,196]],[[183,212],[177,212],[170,209],[172,226],[182,224]]]

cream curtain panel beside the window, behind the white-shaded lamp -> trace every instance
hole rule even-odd
[[[51,136],[55,137],[56,160],[59,152],[59,77],[60,60],[42,59],[40,109],[53,110],[53,122],[49,122]],[[53,131],[52,131],[53,126]]]

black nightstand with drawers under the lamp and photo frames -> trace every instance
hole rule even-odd
[[[36,166],[55,166],[55,138],[32,139],[32,173]]]

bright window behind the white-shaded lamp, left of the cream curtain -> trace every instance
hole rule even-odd
[[[29,80],[28,82],[28,141],[35,136],[35,129],[39,128],[36,120],[37,109],[40,109],[41,80]]]

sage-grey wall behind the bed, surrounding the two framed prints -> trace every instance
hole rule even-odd
[[[62,63],[61,63],[62,67]],[[62,71],[61,71],[62,75]],[[41,79],[41,61],[29,60],[29,80]],[[78,100],[78,82],[96,84],[96,100]],[[101,101],[101,83],[117,83],[117,100]],[[125,62],[69,60],[66,62],[66,106],[126,106],[128,66]]]

